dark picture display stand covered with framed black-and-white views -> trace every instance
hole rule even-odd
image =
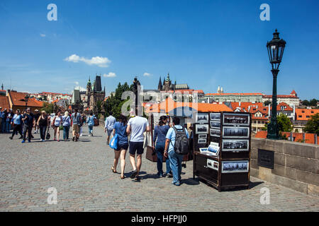
[[[193,177],[222,191],[250,184],[251,116],[245,112],[195,115]]]

